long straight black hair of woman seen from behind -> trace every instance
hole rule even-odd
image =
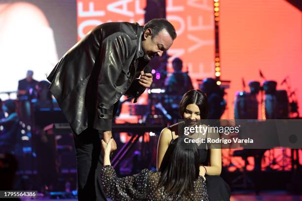
[[[194,181],[199,176],[198,150],[196,143],[186,143],[186,136],[174,139],[158,169],[161,172],[157,189],[164,187],[168,197],[185,198],[192,194]]]

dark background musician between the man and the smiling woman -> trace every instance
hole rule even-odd
[[[183,61],[175,58],[172,61],[174,72],[165,80],[165,103],[164,108],[172,117],[172,123],[180,119],[178,105],[183,95],[193,89],[188,72],[183,72]]]

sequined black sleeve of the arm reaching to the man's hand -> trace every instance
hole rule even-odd
[[[107,197],[113,201],[144,200],[149,171],[144,169],[138,174],[118,178],[112,166],[104,166],[101,170],[101,183]]]

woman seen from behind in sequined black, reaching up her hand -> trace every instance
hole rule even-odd
[[[108,144],[102,140],[101,181],[107,196],[113,201],[208,201],[204,177],[199,175],[197,145],[187,140],[183,136],[171,141],[158,171],[144,169],[123,178],[116,176],[110,163],[112,139]]]

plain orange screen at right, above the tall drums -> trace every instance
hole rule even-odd
[[[280,83],[289,76],[302,114],[301,27],[301,11],[286,0],[220,1],[221,79],[231,81],[224,118],[234,117],[233,101],[235,92],[242,90],[242,77],[263,82],[259,69],[266,79],[278,82],[277,90],[286,89]]]

